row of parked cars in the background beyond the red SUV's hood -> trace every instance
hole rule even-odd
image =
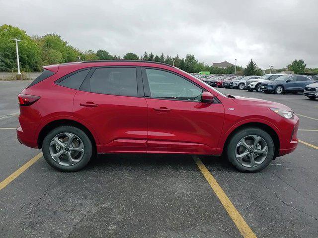
[[[197,78],[212,87],[246,89],[250,92],[254,90],[264,93],[274,92],[275,94],[303,92],[309,99],[318,98],[318,78],[308,75],[280,73],[263,76],[198,75]]]

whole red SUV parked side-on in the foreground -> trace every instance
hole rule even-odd
[[[224,95],[150,61],[44,67],[18,95],[18,140],[55,169],[82,169],[96,153],[224,154],[239,171],[264,169],[297,147],[287,106]]]

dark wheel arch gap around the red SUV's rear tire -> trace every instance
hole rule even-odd
[[[79,123],[78,121],[75,120],[71,120],[71,119],[58,119],[58,120],[53,120],[49,123],[47,123],[40,131],[39,135],[38,135],[38,148],[41,149],[42,148],[42,143],[43,140],[45,138],[45,136],[54,128],[57,128],[59,126],[64,126],[64,125],[70,125],[70,126],[74,126],[77,127],[79,129],[81,129],[82,131],[84,131],[86,133],[86,135],[88,136],[88,138],[90,139],[92,146],[93,146],[93,152],[97,152],[97,144],[95,141],[94,136],[92,135],[92,133],[90,132],[90,130],[84,126],[83,124]]]

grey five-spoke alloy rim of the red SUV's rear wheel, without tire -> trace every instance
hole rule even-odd
[[[72,166],[82,159],[84,144],[77,135],[63,132],[51,140],[49,150],[54,161],[60,165]]]

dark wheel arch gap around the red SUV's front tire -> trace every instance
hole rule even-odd
[[[279,148],[280,148],[280,142],[279,142],[279,137],[276,133],[276,131],[269,125],[265,124],[265,123],[261,123],[261,122],[248,122],[242,125],[239,125],[237,128],[235,128],[227,137],[224,145],[223,145],[223,154],[226,152],[226,148],[229,145],[229,142],[231,140],[231,138],[238,133],[240,130],[244,130],[245,128],[259,128],[262,129],[264,131],[266,131],[273,139],[274,141],[274,145],[275,145],[275,153],[274,153],[274,159],[276,158],[276,156],[279,153]]]

